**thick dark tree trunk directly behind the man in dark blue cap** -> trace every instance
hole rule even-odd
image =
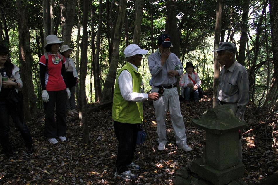
[[[176,54],[176,56],[180,56],[180,38],[181,33],[178,30],[177,26],[177,14],[176,14],[176,0],[167,0],[166,1],[166,24],[165,24],[165,30],[166,33],[171,37],[171,43],[174,47],[171,48],[171,52]]]

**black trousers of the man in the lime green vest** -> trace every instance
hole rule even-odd
[[[126,165],[131,164],[136,148],[136,139],[138,131],[137,123],[120,123],[114,121],[116,137],[119,141],[118,154],[116,160],[117,173],[128,170]]]

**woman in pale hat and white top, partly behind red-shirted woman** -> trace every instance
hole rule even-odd
[[[71,92],[70,99],[67,99],[66,101],[66,109],[67,111],[71,111],[75,114],[78,114],[78,112],[75,110],[76,103],[75,103],[75,85],[78,83],[78,74],[73,62],[73,59],[70,58],[70,54],[72,52],[72,48],[68,47],[68,45],[63,45],[61,47],[61,55],[63,55],[66,58],[66,76],[68,81],[68,88]]]

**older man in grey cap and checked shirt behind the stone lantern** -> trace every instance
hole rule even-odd
[[[235,117],[244,121],[244,112],[249,102],[249,81],[246,68],[235,59],[236,46],[230,42],[220,42],[217,60],[222,66],[217,88],[217,106],[229,106]],[[242,161],[241,140],[239,140],[239,160]]]

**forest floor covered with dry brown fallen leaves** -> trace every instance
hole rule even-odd
[[[148,140],[137,146],[134,162],[141,169],[134,172],[138,176],[135,182],[114,178],[118,141],[111,110],[92,112],[92,107],[96,105],[88,105],[88,144],[82,143],[82,129],[78,119],[75,119],[77,115],[68,115],[68,141],[56,145],[50,144],[44,137],[44,114],[41,111],[36,119],[27,122],[34,139],[34,155],[26,155],[19,132],[11,126],[10,141],[18,158],[7,160],[0,153],[0,184],[174,184],[176,171],[202,155],[205,131],[193,126],[189,118],[198,119],[205,110],[211,108],[211,97],[204,96],[198,106],[190,108],[181,103],[188,145],[193,148],[192,152],[187,153],[176,147],[169,114],[166,124],[167,149],[157,150],[154,108],[150,102],[144,104],[145,121],[155,152],[150,150]],[[256,183],[278,170],[278,123],[260,126],[271,119],[277,119],[277,115],[275,117],[267,109],[248,105],[245,112],[248,127],[243,132],[254,129],[242,138],[243,164],[246,169],[242,179],[248,184]]]

